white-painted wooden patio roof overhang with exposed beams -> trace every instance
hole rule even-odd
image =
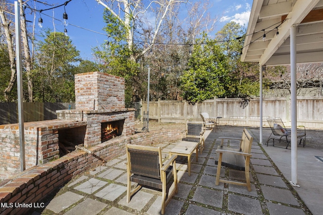
[[[323,62],[323,0],[254,0],[241,61],[290,64],[292,26],[297,27],[296,62]]]

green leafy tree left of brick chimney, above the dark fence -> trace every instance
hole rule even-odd
[[[61,32],[46,30],[44,41],[36,44],[34,100],[40,102],[71,102],[75,100],[74,75],[79,51],[71,39]]]

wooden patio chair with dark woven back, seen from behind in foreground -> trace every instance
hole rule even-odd
[[[166,205],[172,196],[177,193],[177,171],[176,158],[173,155],[165,161],[161,158],[160,147],[147,147],[126,145],[127,152],[127,202],[131,196],[142,186],[148,186],[161,190],[161,214],[164,214]],[[131,191],[131,182],[138,183],[136,188]],[[174,190],[169,193],[171,185],[174,183]]]

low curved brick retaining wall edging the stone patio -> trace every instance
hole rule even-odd
[[[153,142],[167,142],[181,138],[180,130],[150,131],[130,136],[120,136],[88,148],[90,155],[77,150],[42,166],[25,170],[19,176],[0,184],[1,214],[23,214],[30,208],[10,207],[10,203],[32,205],[41,203],[47,194],[67,183],[73,176],[84,173],[104,161],[109,161],[125,154],[125,145],[150,145]],[[5,207],[5,205],[8,207]]]

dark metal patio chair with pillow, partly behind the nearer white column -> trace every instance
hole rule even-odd
[[[285,127],[280,117],[267,118],[267,122],[272,129],[272,133],[268,137],[266,145],[268,146],[268,142],[272,139],[273,146],[275,146],[275,140],[278,140],[279,142],[285,142],[287,149],[291,142],[291,130]],[[302,125],[297,126],[297,139],[299,139],[299,145],[303,142],[303,147],[305,147],[306,129]]]

